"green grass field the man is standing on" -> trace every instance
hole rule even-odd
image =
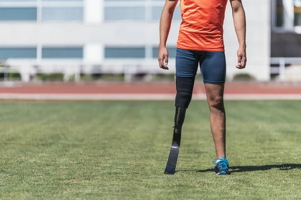
[[[193,101],[175,175],[163,175],[174,102],[0,103],[0,199],[300,199],[301,101],[227,101],[227,158],[215,158],[205,101]]]

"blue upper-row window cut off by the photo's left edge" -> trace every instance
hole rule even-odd
[[[20,20],[35,21],[37,20],[36,7],[0,7],[0,20]]]

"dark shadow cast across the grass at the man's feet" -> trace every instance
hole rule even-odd
[[[288,170],[294,168],[300,168],[301,164],[270,164],[270,165],[262,165],[262,166],[229,166],[231,172],[244,172],[244,171],[262,171],[269,170],[272,168],[277,168],[279,170]],[[196,171],[196,172],[207,172],[214,171],[213,168],[197,170],[197,169],[187,169],[187,170],[176,170],[176,171]]]

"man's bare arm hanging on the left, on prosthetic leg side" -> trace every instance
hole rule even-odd
[[[160,43],[159,43],[159,66],[168,69],[168,50],[166,48],[167,37],[171,28],[172,18],[178,0],[166,0],[160,19]]]

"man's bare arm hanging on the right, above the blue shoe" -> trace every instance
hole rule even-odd
[[[245,68],[246,57],[246,17],[241,0],[230,0],[232,5],[233,21],[236,35],[239,42],[239,49],[237,51],[238,65],[236,68]]]

